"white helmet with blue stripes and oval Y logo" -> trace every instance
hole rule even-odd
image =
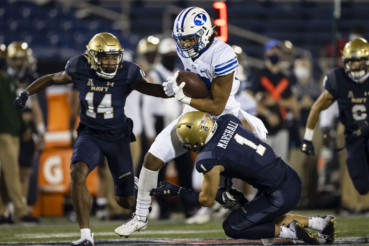
[[[209,43],[211,34],[213,34],[213,27],[210,16],[202,8],[185,8],[174,21],[172,37],[177,42],[179,54],[184,58],[197,57]],[[181,43],[181,40],[194,37],[198,40],[190,47],[184,47]]]

